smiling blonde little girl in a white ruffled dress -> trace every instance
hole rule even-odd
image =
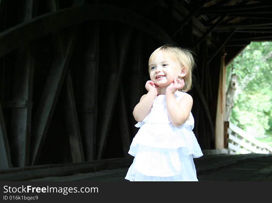
[[[203,156],[193,133],[192,54],[164,45],[148,61],[147,94],[135,106],[140,128],[130,145],[130,181],[198,181],[193,158]],[[178,91],[179,90],[179,91]]]

